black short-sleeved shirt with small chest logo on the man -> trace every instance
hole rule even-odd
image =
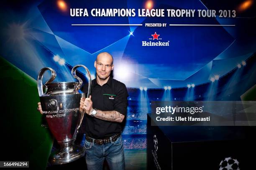
[[[88,83],[81,89],[87,94]],[[118,111],[125,115],[127,112],[128,92],[125,84],[109,78],[108,82],[100,86],[96,79],[92,80],[91,91],[92,107],[102,111]],[[104,139],[120,133],[122,125],[119,122],[110,122],[84,114],[81,130],[79,133],[85,133],[90,138]]]

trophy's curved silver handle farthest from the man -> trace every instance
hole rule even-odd
[[[56,72],[54,71],[54,69],[52,69],[50,67],[44,67],[44,68],[42,68],[40,70],[40,72],[38,74],[38,77],[37,77],[37,89],[38,89],[38,93],[39,93],[40,97],[42,95],[44,95],[42,79],[43,79],[44,72],[46,70],[50,70],[51,71],[51,78],[46,83],[52,82],[55,79],[55,77],[56,77]]]

